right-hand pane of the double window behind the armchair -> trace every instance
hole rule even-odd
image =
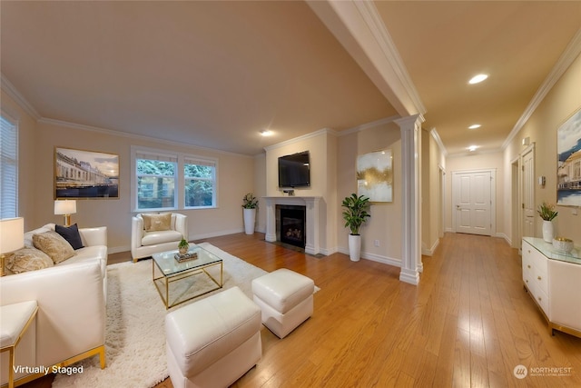
[[[215,203],[216,167],[211,161],[185,158],[185,207],[212,207]]]

